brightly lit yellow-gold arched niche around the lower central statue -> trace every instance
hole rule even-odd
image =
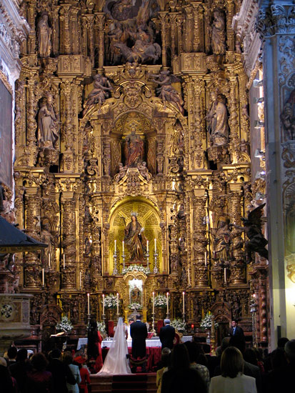
[[[131,221],[131,212],[137,213],[137,220],[141,227],[144,227],[144,234],[149,240],[149,267],[151,272],[154,270],[154,239],[156,239],[156,250],[158,254],[158,269],[163,271],[162,264],[162,244],[161,244],[161,228],[159,212],[148,199],[144,197],[127,197],[121,200],[111,210],[109,224],[109,273],[112,274],[114,270],[114,244],[116,239],[117,252],[117,268],[119,273],[123,267],[122,252],[124,229]],[[126,266],[129,265],[129,252],[125,247]]]

